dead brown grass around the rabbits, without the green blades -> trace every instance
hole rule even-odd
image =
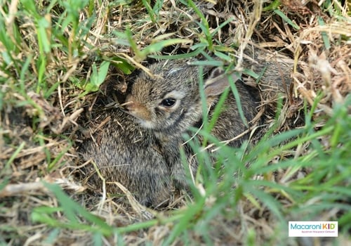
[[[258,2],[218,1],[218,4],[214,5],[209,1],[202,1],[198,7],[212,29],[228,18],[233,18],[232,22],[218,32],[216,39],[230,47],[230,50],[233,50],[232,44],[237,44],[239,66],[241,51],[252,43],[272,54],[282,53],[291,59],[294,64],[291,71],[293,87],[288,88],[285,95],[287,100],[283,108],[284,117],[280,119],[280,131],[296,127],[296,122],[299,124],[303,122],[303,115],[299,113],[303,101],[312,106],[317,91],[322,91],[323,98],[317,105],[314,117],[320,117],[322,114],[331,115],[333,105],[342,103],[351,91],[351,44],[343,39],[343,36],[350,38],[351,34],[350,18],[347,18],[347,13],[344,14],[345,20],[336,20],[323,12],[317,1],[307,1],[307,4],[298,0],[282,1],[281,10],[300,27],[300,30],[295,30],[271,11],[261,12]],[[140,2],[131,4],[131,7],[120,6],[112,9],[102,2],[98,9],[100,12],[88,42],[94,44],[106,56],[126,58],[136,67],[142,67],[141,64],[145,63],[142,63],[143,60],[136,57],[130,49],[114,44],[109,38],[113,30],[123,31],[128,25],[140,50],[163,34],[167,34],[168,37],[190,39],[193,43],[199,41],[202,35],[194,24],[195,20],[199,21],[198,16],[188,8],[174,4],[173,1],[164,1],[157,23],[148,21],[147,11]],[[324,20],[324,26],[318,25],[318,17]],[[81,18],[84,19],[84,14],[81,14]],[[32,53],[33,50],[37,50],[32,34],[32,22],[21,25],[20,30],[22,34],[27,35],[27,48],[23,49],[25,56],[25,52]],[[325,48],[322,32],[331,41],[328,50]],[[191,44],[190,42],[168,47],[162,54],[188,52]],[[65,87],[67,84],[65,82],[71,76],[86,75],[89,72],[84,64],[89,62],[91,52],[81,58],[71,58],[65,57],[59,49],[54,50],[55,56],[59,59],[53,59],[51,63],[53,83],[60,81],[62,84],[48,100],[37,93],[29,93],[36,105],[40,105],[39,110],[29,104],[25,107],[16,106],[12,102],[25,99],[20,98],[13,89],[1,85],[1,90],[8,91],[4,98],[8,103],[1,112],[0,170],[4,170],[5,166],[11,166],[10,169],[6,169],[11,171],[0,172],[0,179],[8,180],[6,188],[0,191],[0,223],[11,228],[9,233],[13,233],[14,236],[9,241],[11,245],[39,245],[48,236],[49,231],[45,225],[32,224],[29,218],[35,207],[58,205],[55,197],[39,182],[43,179],[59,183],[74,200],[114,226],[126,226],[135,221],[144,221],[154,214],[157,214],[157,217],[166,216],[168,209],[185,205],[183,197],[176,195],[171,207],[163,212],[154,212],[140,207],[138,202],[133,201],[133,197],[128,195],[128,190],[126,194],[131,205],[109,198],[102,201],[91,191],[88,192],[87,186],[76,179],[77,174],[84,176],[79,167],[88,163],[81,163],[76,153],[76,145],[69,139],[79,141],[76,135],[79,129],[77,119],[81,115],[83,105],[93,103],[93,96],[77,100],[79,90],[72,89],[72,86]],[[63,64],[65,64],[63,67],[67,67],[67,72],[56,70]],[[128,80],[124,76],[119,73],[120,80]],[[267,95],[269,94],[268,91]],[[277,99],[274,96],[263,98],[265,104],[273,109]],[[267,125],[272,122],[273,117],[274,115],[267,115]],[[40,123],[31,124],[32,119]],[[36,129],[33,129],[33,125]],[[319,127],[322,127],[322,123]],[[41,140],[37,139],[37,136],[34,139],[33,133],[37,129],[46,133],[41,135]],[[58,134],[64,134],[67,138],[62,138]],[[60,153],[64,154],[55,162],[55,168],[48,171],[48,160],[53,160]],[[276,178],[279,179],[281,176],[284,176],[284,173],[277,174]],[[286,198],[279,198],[277,195],[277,199],[289,205]],[[211,207],[211,201],[208,202],[208,206]],[[272,217],[266,214],[267,209],[258,209],[246,200],[239,202],[239,206],[235,209],[239,211],[237,218],[216,218],[216,221],[211,222],[213,233],[210,237],[215,245],[243,244],[242,238],[248,228],[256,231],[258,245],[274,233],[270,226]],[[124,240],[126,244],[139,245],[152,241],[154,245],[159,245],[171,230],[171,226],[171,224],[157,225],[147,231],[128,233],[124,235]],[[193,232],[189,236],[195,242],[204,244],[201,234]],[[117,238],[107,240],[114,245]],[[72,244],[90,245],[91,235],[79,231],[60,231],[56,245]]]

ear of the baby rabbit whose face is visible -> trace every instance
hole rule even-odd
[[[220,68],[213,70],[211,76],[205,82],[204,91],[206,96],[218,96],[223,93],[230,86],[228,76],[232,77],[233,82],[239,79],[235,73],[225,75]]]

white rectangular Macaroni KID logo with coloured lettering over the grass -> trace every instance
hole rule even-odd
[[[289,237],[337,237],[338,221],[289,221]]]

